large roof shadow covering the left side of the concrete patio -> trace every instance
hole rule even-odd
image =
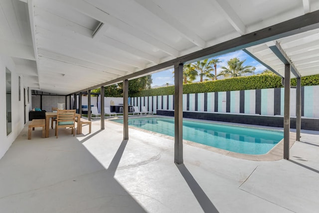
[[[146,212],[114,178],[127,141],[113,141],[120,147],[105,169],[82,145],[101,130],[81,142],[70,130],[32,140],[26,131],[0,161],[0,212]]]

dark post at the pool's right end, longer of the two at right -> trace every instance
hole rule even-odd
[[[290,64],[285,64],[284,159],[289,160],[290,140]]]

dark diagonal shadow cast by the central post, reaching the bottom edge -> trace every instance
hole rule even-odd
[[[205,213],[219,213],[184,164],[175,164]]]

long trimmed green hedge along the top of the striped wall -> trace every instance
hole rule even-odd
[[[305,76],[301,79],[302,86],[319,85],[319,75]],[[296,78],[291,79],[291,85],[296,86]],[[203,92],[220,92],[236,91],[250,89],[266,89],[283,87],[281,77],[274,74],[261,74],[244,76],[238,78],[227,78],[217,81],[205,81],[189,83],[183,85],[183,93],[203,93]],[[143,90],[135,93],[132,97],[173,95],[174,86],[159,87],[155,89]]]

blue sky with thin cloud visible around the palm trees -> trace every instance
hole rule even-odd
[[[246,61],[243,64],[244,66],[246,66],[246,65],[255,66],[256,67],[255,73],[262,72],[266,69],[266,67],[264,67],[262,64],[257,62],[255,59],[253,59],[249,55],[247,55],[244,51],[238,50],[238,51],[231,52],[228,54],[213,57],[213,58],[219,58],[219,60],[222,61],[222,62],[217,64],[217,74],[221,71],[222,66],[227,67],[227,61],[229,59],[235,58],[235,57],[239,58],[239,60],[246,59]],[[167,70],[152,74],[152,79],[153,79],[152,86],[155,86],[155,85],[161,86],[161,85],[166,84],[166,83],[174,84],[174,78],[173,78],[172,71],[173,71],[173,69],[167,69]],[[199,76],[197,76],[197,78],[194,82],[196,82],[196,81],[199,81]]]

